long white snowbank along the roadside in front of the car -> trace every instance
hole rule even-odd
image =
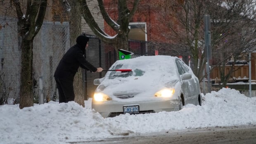
[[[203,95],[202,106],[188,104],[184,109],[139,115],[103,118],[75,102],[49,102],[19,109],[0,106],[0,144],[65,144],[106,137],[144,135],[203,127],[256,124],[256,97],[223,88]]]

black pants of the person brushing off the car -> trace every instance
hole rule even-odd
[[[59,103],[74,101],[73,81],[63,81],[59,78],[55,78],[55,81],[59,91]]]

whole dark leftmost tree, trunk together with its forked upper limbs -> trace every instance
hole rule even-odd
[[[47,0],[10,0],[17,14],[18,34],[21,37],[21,86],[19,108],[33,106],[33,40],[39,32]]]

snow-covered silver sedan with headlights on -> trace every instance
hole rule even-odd
[[[131,71],[116,71],[131,69]],[[130,113],[178,111],[201,105],[198,78],[178,57],[141,56],[116,61],[98,85],[92,109],[104,118]]]

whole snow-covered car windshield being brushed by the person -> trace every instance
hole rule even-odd
[[[175,64],[176,57],[170,56],[144,56],[133,59],[123,59],[116,61],[105,75],[105,85],[109,83],[126,83],[130,81],[134,84],[138,81],[147,83],[164,83],[170,79],[175,79],[178,76],[177,66]],[[128,69],[131,71],[115,71]],[[108,81],[108,80],[110,81]]]

